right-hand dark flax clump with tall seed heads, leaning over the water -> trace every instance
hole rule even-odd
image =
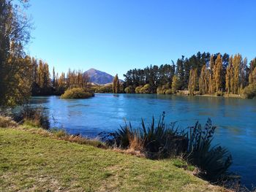
[[[211,146],[215,128],[216,126],[211,125],[210,119],[204,128],[198,122],[190,128],[187,159],[200,169],[200,177],[217,183],[227,177],[232,156],[224,147]]]

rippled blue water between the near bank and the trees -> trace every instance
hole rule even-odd
[[[231,171],[242,176],[242,183],[256,185],[256,100],[203,96],[165,96],[143,94],[96,94],[91,99],[59,99],[58,96],[34,97],[31,102],[45,107],[51,126],[65,128],[70,134],[97,137],[124,125],[133,127],[141,118],[150,123],[163,111],[167,122],[178,121],[182,128],[206,123],[217,126],[214,137],[233,155]]]

